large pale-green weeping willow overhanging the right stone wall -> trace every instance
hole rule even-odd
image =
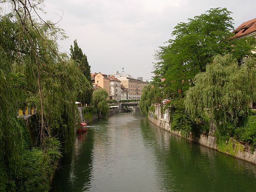
[[[186,111],[192,119],[207,114],[217,127],[237,123],[256,101],[256,58],[239,66],[231,55],[216,56],[206,72],[195,76],[195,86],[186,93]]]

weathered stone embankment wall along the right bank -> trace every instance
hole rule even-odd
[[[157,125],[158,127],[163,128],[172,134],[182,137],[180,131],[174,131],[171,129],[171,125],[169,122],[169,111],[166,110],[165,113],[161,113],[160,105],[155,106],[155,112],[148,113],[148,120],[154,123],[154,125]],[[193,137],[192,134],[190,134],[189,137],[187,137],[186,139],[192,142],[198,143],[200,145],[203,145],[205,147],[219,151],[217,148],[217,144],[215,142],[216,141],[214,136],[215,129],[216,129],[216,126],[214,125],[214,123],[210,123],[210,130],[208,134],[203,133],[196,138]],[[241,142],[240,144],[242,145],[243,150],[241,151],[239,149],[234,157],[256,164],[256,149],[252,153],[250,149],[250,145],[247,145],[246,143],[241,143]],[[229,153],[226,153],[226,154],[230,155]]]

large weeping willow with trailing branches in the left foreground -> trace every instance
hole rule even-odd
[[[37,110],[38,143],[56,136],[68,151],[74,140],[76,98],[90,83],[67,55],[58,51],[62,29],[38,14],[42,0],[6,0],[0,12],[0,167],[19,170],[23,135],[17,119],[22,106]]]

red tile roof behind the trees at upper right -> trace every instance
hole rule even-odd
[[[248,20],[242,23],[239,27],[237,27],[233,33],[235,36],[232,38],[240,38],[245,35],[249,35],[250,33],[256,32],[256,18],[252,20]]]

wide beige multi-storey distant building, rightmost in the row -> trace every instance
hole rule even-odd
[[[121,84],[128,89],[129,99],[140,99],[143,87],[149,84],[149,82],[132,79],[125,76],[118,77],[117,79],[119,79]]]

